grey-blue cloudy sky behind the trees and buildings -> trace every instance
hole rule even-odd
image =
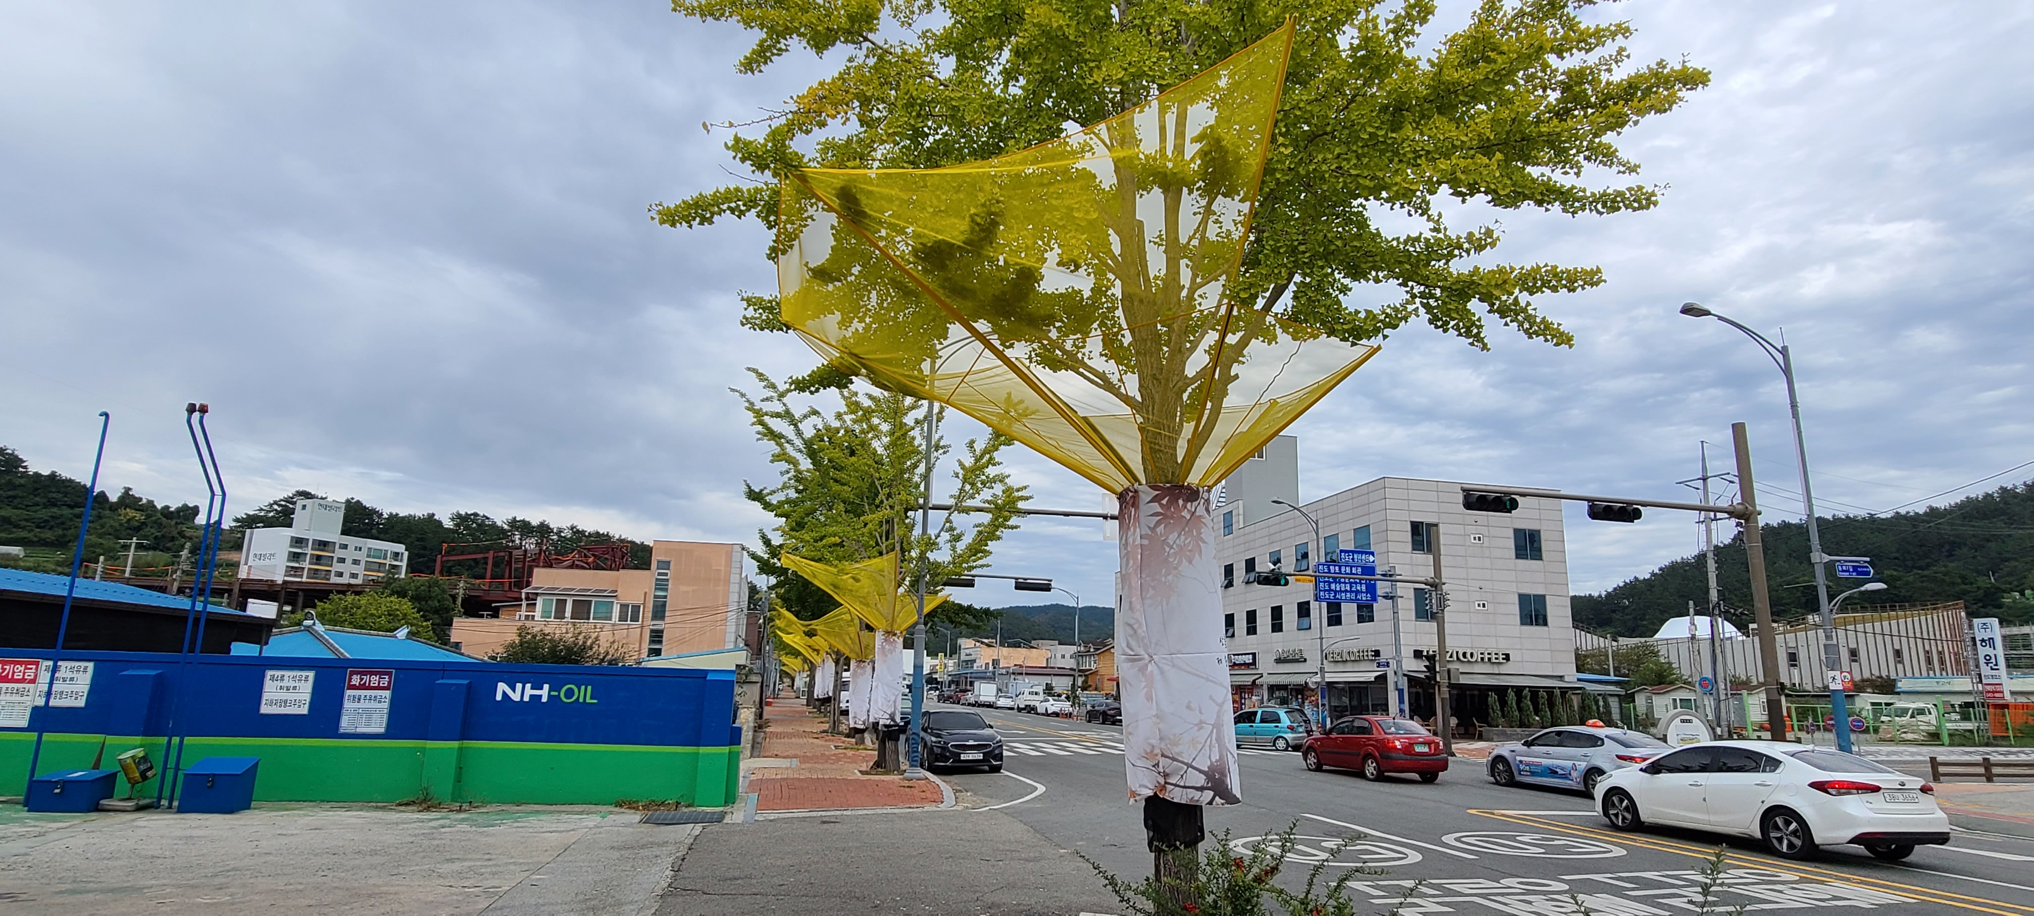
[[[2034,460],[2034,8],[1607,14],[1635,59],[1686,55],[1715,85],[1623,138],[1668,185],[1658,210],[1503,214],[1507,259],[1607,271],[1542,303],[1578,344],[1395,334],[1294,427],[1304,497],[1401,474],[1676,499],[1733,419],[1796,489],[1778,373],[1686,299],[1784,328],[1837,511]],[[309,486],[753,539],[738,486],[771,470],[726,389],[812,354],[734,324],[736,291],[775,283],[755,226],[645,214],[730,181],[702,122],[824,71],[734,75],[744,47],[657,2],[6,4],[0,444],[81,478],[108,409],[102,482],[193,501],[181,407],[201,399],[236,509]],[[1039,505],[1106,505],[1013,466]],[[1666,513],[1568,531],[1574,590],[1694,543]],[[1115,554],[1033,521],[997,568],[1106,603]]]

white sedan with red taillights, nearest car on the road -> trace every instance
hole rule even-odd
[[[1709,741],[1597,782],[1619,831],[1672,824],[1757,837],[1786,859],[1857,843],[1877,859],[1949,843],[1934,786],[1869,759],[1782,741]]]

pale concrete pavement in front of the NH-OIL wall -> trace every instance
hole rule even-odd
[[[0,912],[645,914],[698,826],[616,808],[258,804],[240,814],[0,808]]]

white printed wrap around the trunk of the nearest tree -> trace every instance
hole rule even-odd
[[[1237,804],[1237,729],[1210,491],[1137,484],[1117,497],[1123,596],[1117,684],[1131,800]]]

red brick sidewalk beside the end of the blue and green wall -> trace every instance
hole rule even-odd
[[[763,755],[742,763],[744,790],[759,812],[932,808],[946,802],[940,784],[899,776],[864,776],[875,751],[842,751],[848,739],[826,733],[826,717],[797,700],[763,710]]]

